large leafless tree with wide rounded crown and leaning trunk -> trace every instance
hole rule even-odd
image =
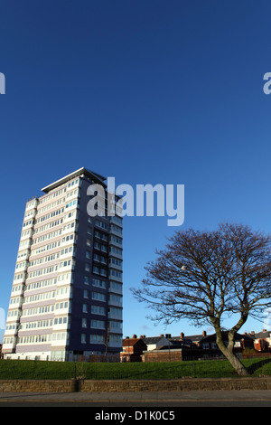
[[[248,370],[234,354],[234,339],[248,316],[263,318],[271,306],[271,239],[239,224],[217,231],[176,231],[158,259],[149,262],[146,279],[134,296],[155,311],[152,318],[169,325],[182,318],[196,326],[210,324],[217,345],[238,374]],[[222,323],[231,316],[228,342]]]

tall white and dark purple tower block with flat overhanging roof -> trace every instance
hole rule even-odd
[[[122,218],[91,217],[86,168],[26,203],[5,358],[73,360],[122,351]],[[105,189],[107,194],[107,191]]]

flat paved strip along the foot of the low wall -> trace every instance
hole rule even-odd
[[[39,405],[68,404],[100,407],[137,405],[265,405],[271,407],[271,391],[190,391],[190,392],[0,392],[0,407],[14,403],[39,403]]]

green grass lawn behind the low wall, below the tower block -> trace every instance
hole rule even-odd
[[[264,362],[264,364],[262,364]],[[271,375],[265,359],[247,359],[253,376]],[[0,379],[181,379],[237,376],[227,360],[167,363],[72,363],[35,360],[0,361]]]

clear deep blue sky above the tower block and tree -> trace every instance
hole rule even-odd
[[[5,312],[25,202],[81,166],[116,184],[184,184],[182,229],[271,230],[270,12],[267,0],[0,2]],[[129,290],[177,229],[124,225],[124,335],[200,333],[154,326]]]

